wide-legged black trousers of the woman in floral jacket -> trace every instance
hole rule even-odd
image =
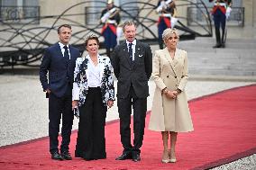
[[[106,106],[100,87],[89,87],[86,103],[79,107],[78,139],[75,157],[102,159],[105,153]]]

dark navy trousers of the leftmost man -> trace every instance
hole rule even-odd
[[[69,86],[66,94],[57,97],[55,94],[49,95],[49,137],[50,153],[59,151],[59,124],[62,115],[61,146],[60,152],[69,151],[70,135],[74,120],[72,112],[72,88]]]

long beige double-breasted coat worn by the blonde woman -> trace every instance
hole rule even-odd
[[[155,51],[152,77],[156,84],[151,108],[150,130],[192,131],[193,124],[188,108],[185,86],[187,84],[187,52],[176,49],[174,59],[170,58],[167,48]],[[176,99],[168,99],[161,91],[181,90]]]

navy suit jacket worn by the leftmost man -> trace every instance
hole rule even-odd
[[[62,55],[59,43],[45,49],[40,66],[40,81],[43,90],[61,97],[71,87],[74,80],[76,60],[80,57],[79,50],[69,45],[69,65]],[[48,74],[48,76],[47,76]],[[49,79],[48,79],[49,78]]]

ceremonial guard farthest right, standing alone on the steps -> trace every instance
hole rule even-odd
[[[212,10],[215,21],[216,37],[216,45],[214,48],[224,48],[225,23],[231,12],[232,0],[209,0],[209,2],[215,2],[214,8]],[[220,27],[222,27],[222,36],[220,33]]]

